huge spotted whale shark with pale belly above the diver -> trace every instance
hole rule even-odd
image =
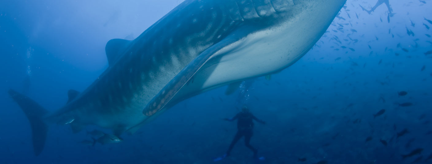
[[[35,155],[49,124],[70,125],[75,133],[95,125],[115,136],[133,134],[180,101],[291,66],[345,2],[186,0],[134,40],[108,41],[108,68],[84,91],[69,90],[60,109],[8,92],[29,119]]]

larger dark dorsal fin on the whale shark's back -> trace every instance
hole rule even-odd
[[[125,39],[111,39],[105,46],[105,54],[107,55],[108,65],[113,66],[114,63],[122,56],[124,50],[129,46],[130,41]]]

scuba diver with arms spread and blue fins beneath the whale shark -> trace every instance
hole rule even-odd
[[[251,112],[249,112],[248,106],[243,105],[243,107],[241,107],[241,112],[239,112],[238,114],[236,114],[234,117],[232,118],[225,118],[224,120],[226,121],[234,121],[237,120],[237,134],[235,134],[234,139],[232,139],[231,144],[229,145],[228,151],[226,151],[226,154],[223,155],[222,157],[216,158],[213,161],[220,161],[223,158],[226,158],[230,155],[230,152],[232,150],[232,148],[234,147],[235,143],[243,136],[245,136],[245,145],[246,147],[248,147],[249,149],[251,149],[251,151],[254,152],[254,158],[257,158],[257,149],[255,149],[254,147],[251,146],[251,144],[249,144],[249,142],[251,141],[251,137],[253,134],[252,129],[254,128],[254,122],[252,120],[256,120],[259,123],[265,124],[266,122],[264,122],[263,120],[257,119],[257,117],[255,117],[253,114],[251,114]],[[259,160],[264,160],[264,157],[260,157],[257,158]]]

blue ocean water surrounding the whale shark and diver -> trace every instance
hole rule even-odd
[[[255,123],[251,139],[266,158],[259,163],[432,163],[431,0],[389,0],[394,14],[385,3],[371,14],[360,7],[376,0],[348,0],[312,49],[270,78],[248,80],[232,95],[223,86],[184,100],[121,143],[85,145],[86,131],[98,127],[73,134],[50,125],[35,156],[29,121],[7,91],[59,109],[69,89],[83,91],[107,69],[107,41],[138,37],[181,2],[0,2],[0,163],[213,163],[237,130],[222,119],[242,104],[266,121]],[[217,163],[255,163],[251,156],[241,139]]]

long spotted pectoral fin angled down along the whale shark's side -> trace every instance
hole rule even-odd
[[[219,50],[238,41],[240,38],[228,37],[213,46],[207,48],[198,57],[191,61],[183,70],[180,71],[159,93],[149,101],[144,107],[143,114],[146,116],[152,116],[162,110],[166,104],[180,91],[183,86],[190,81],[192,76],[200,70],[200,68],[206,64],[212,57],[216,56]],[[223,54],[222,54],[223,55]]]

